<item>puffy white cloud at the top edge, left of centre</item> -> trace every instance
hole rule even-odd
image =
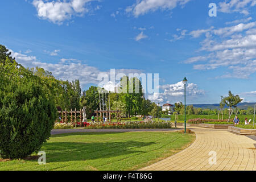
[[[71,1],[43,1],[34,0],[32,5],[36,7],[38,16],[56,24],[62,24],[64,20],[72,16],[81,16],[88,13],[86,3],[94,0],[71,0]]]

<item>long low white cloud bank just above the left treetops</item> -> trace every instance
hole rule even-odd
[[[49,72],[52,72],[53,76],[60,80],[75,80],[79,79],[81,86],[86,84],[99,84],[98,75],[105,74],[110,78],[110,71],[100,71],[97,67],[92,67],[88,64],[83,64],[82,61],[77,59],[60,59],[59,63],[46,63],[36,59],[36,56],[28,56],[22,53],[14,52],[9,49],[11,56],[15,57],[18,63],[22,64],[26,68],[40,67]],[[128,75],[129,73],[142,73],[139,69],[115,69],[115,74],[123,73]]]

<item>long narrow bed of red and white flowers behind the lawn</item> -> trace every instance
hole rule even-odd
[[[170,129],[170,122],[90,123],[85,129]]]

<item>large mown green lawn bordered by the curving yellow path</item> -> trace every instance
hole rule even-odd
[[[183,150],[194,134],[174,132],[72,133],[53,135],[37,160],[0,162],[0,170],[134,170]]]

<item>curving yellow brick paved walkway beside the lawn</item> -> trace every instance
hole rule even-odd
[[[256,171],[255,140],[226,129],[188,127],[196,140],[185,150],[141,170],[198,171],[253,170]],[[210,165],[210,151],[216,151],[216,164]]]

